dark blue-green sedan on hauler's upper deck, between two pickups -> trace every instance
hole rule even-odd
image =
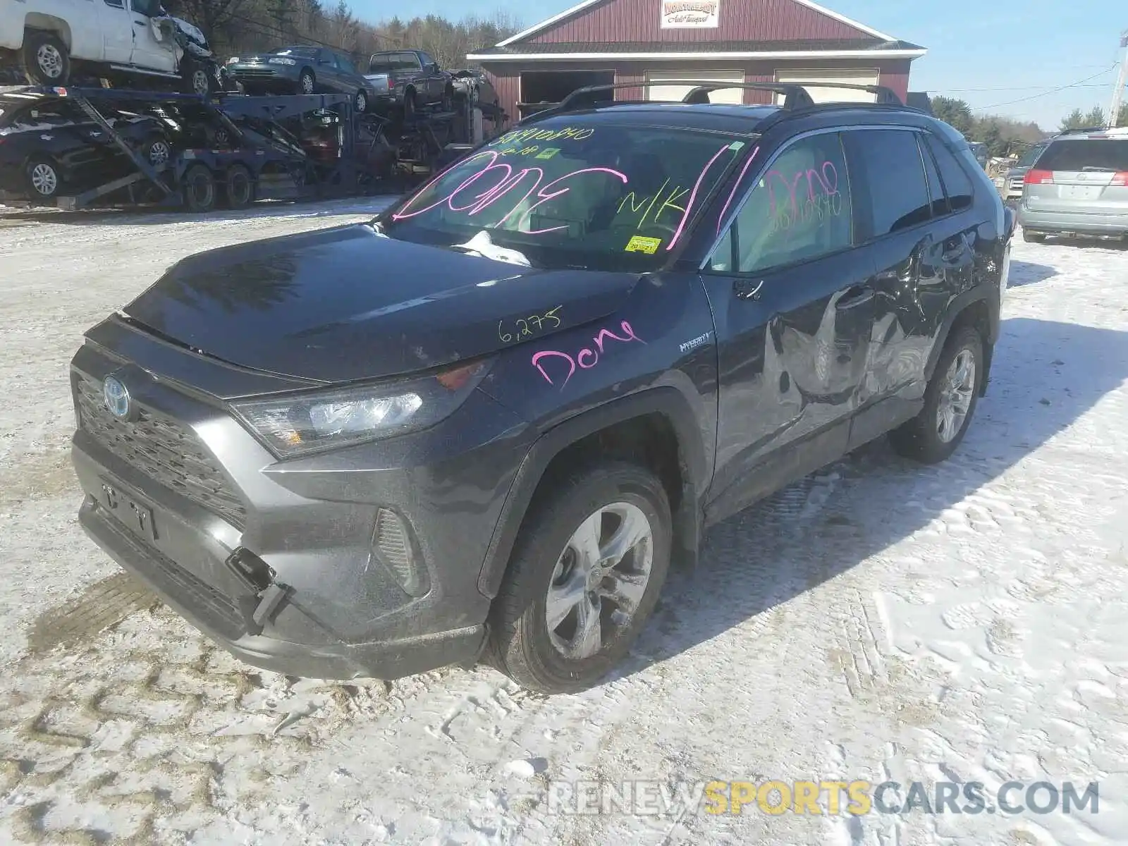
[[[233,56],[227,72],[247,94],[351,94],[358,112],[367,112],[377,95],[347,56],[327,47],[299,45]]]

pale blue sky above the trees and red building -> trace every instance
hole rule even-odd
[[[457,20],[505,11],[528,27],[578,1],[414,0],[408,7],[389,7],[380,0],[351,0],[351,6],[358,17],[373,23],[397,14]],[[958,97],[977,114],[1034,121],[1043,130],[1057,129],[1074,108],[1109,108],[1120,33],[1128,29],[1126,0],[821,0],[821,5],[927,47],[927,55],[913,62],[911,90]],[[1054,90],[1058,88],[1064,90]]]

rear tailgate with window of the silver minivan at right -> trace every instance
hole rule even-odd
[[[1031,211],[1128,213],[1128,135],[1091,133],[1050,143],[1026,174]]]

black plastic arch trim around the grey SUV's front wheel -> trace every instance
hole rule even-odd
[[[662,446],[673,456],[653,455]],[[576,460],[600,455],[629,457],[654,470],[673,512],[676,553],[696,561],[702,531],[699,496],[707,485],[705,444],[689,402],[671,387],[653,388],[579,414],[541,434],[526,453],[486,548],[478,590],[497,596],[518,532],[539,491]],[[656,466],[655,466],[656,465]]]

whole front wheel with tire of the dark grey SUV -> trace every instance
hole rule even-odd
[[[669,570],[672,520],[661,482],[632,464],[552,484],[494,600],[490,653],[522,687],[562,694],[598,682],[638,637]]]

